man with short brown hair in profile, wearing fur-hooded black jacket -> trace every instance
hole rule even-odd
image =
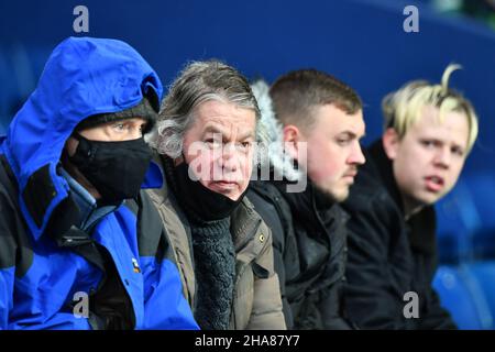
[[[261,165],[271,173],[261,169],[249,198],[273,232],[287,327],[350,329],[341,310],[348,216],[338,204],[364,163],[361,99],[315,69],[288,73],[267,90],[254,85],[258,140],[268,146]]]

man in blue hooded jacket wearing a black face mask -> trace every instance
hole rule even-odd
[[[0,329],[197,329],[143,134],[162,85],[116,40],[70,37],[0,138]]]

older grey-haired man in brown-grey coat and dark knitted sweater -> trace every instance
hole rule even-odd
[[[260,111],[222,63],[189,64],[148,139],[166,185],[150,191],[202,329],[285,329],[272,234],[244,197]]]

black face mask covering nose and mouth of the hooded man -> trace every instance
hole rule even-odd
[[[103,204],[138,197],[152,160],[143,138],[122,142],[89,141],[78,133],[74,138],[79,145],[69,161],[96,187]]]

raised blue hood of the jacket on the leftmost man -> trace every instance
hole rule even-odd
[[[150,89],[160,101],[163,88],[158,76],[121,41],[69,37],[54,50],[36,89],[0,145],[0,154],[6,155],[18,180],[21,210],[35,239],[68,196],[68,185],[56,166],[75,127],[92,114],[131,108]],[[157,175],[156,169],[152,172]],[[43,187],[48,196],[37,194]]]

